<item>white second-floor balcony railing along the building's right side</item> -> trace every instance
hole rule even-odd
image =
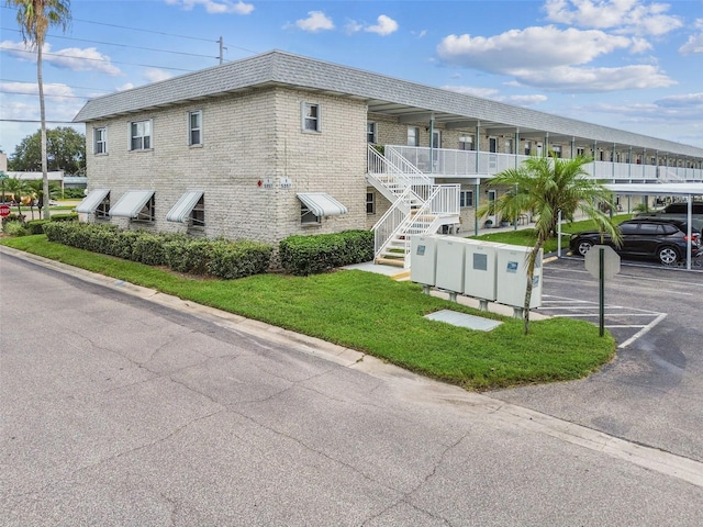
[[[386,156],[402,159],[433,177],[490,177],[509,168],[517,168],[529,156],[476,150],[451,150],[426,146],[386,146]],[[595,179],[606,181],[703,181],[703,169],[636,165],[629,162],[592,161],[583,166]]]

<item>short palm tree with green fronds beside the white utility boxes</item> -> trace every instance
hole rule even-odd
[[[612,193],[599,181],[590,179],[583,166],[591,162],[585,157],[560,159],[531,157],[515,169],[503,170],[491,179],[491,184],[507,187],[507,192],[498,200],[479,208],[478,215],[499,214],[515,220],[531,211],[537,215],[535,222],[536,242],[527,257],[527,289],[523,316],[525,334],[529,332],[529,303],[532,301],[533,278],[539,250],[555,234],[559,213],[572,222],[577,211],[595,222],[598,228],[618,243],[620,233],[610,216],[599,209],[600,203],[612,205]]]

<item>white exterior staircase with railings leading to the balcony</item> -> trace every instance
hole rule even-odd
[[[367,180],[391,202],[372,227],[375,261],[406,269],[413,235],[434,234],[443,225],[459,223],[460,186],[434,184],[433,178],[390,153],[386,157],[369,145]]]

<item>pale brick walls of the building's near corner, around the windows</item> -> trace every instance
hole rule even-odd
[[[301,130],[301,102],[319,103],[322,132]],[[189,111],[202,111],[202,146],[188,146]],[[153,120],[153,149],[130,152],[130,122]],[[92,154],[93,127],[108,128],[108,154]],[[185,232],[166,221],[187,190],[203,190],[207,236],[277,243],[290,234],[366,228],[366,106],[359,101],[283,88],[89,123],[89,190],[154,190],[156,222],[133,227]],[[292,187],[281,189],[280,178]],[[258,182],[271,180],[272,188]],[[327,192],[349,213],[302,227],[298,192]],[[130,222],[113,218],[126,226]]]

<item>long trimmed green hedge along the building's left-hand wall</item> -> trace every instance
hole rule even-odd
[[[46,222],[44,233],[49,242],[225,280],[267,272],[274,253],[270,245],[256,242],[193,239],[182,234],[121,231],[111,224]]]

